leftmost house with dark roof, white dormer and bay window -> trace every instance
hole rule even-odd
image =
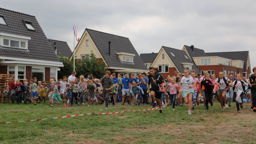
[[[59,67],[63,64],[35,16],[0,8],[0,73],[49,81]]]

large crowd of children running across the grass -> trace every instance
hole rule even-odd
[[[188,114],[191,115],[191,110],[199,103],[203,103],[206,110],[209,110],[209,104],[213,106],[213,101],[218,100],[221,105],[221,110],[231,106],[231,102],[236,102],[237,112],[241,112],[243,107],[243,99],[246,99],[246,104],[250,102],[251,109],[256,112],[256,67],[253,68],[253,74],[250,80],[245,77],[241,78],[240,74],[230,73],[224,76],[223,72],[219,72],[218,77],[214,74],[209,75],[207,71],[201,77],[195,71],[184,69],[184,76],[181,73],[175,72],[175,76],[168,76],[166,80],[153,67],[149,68],[150,74],[142,73],[138,77],[131,75],[131,79],[127,73],[124,73],[122,78],[115,73],[106,71],[100,79],[94,78],[93,75],[88,75],[87,78],[80,76],[76,77],[76,72],[68,78],[62,77],[60,82],[51,78],[49,87],[45,83],[37,81],[37,78],[28,80],[20,80],[10,78],[7,89],[8,95],[12,103],[20,104],[34,103],[39,104],[44,101],[48,95],[48,105],[53,107],[54,104],[63,106],[87,106],[96,104],[105,104],[106,110],[108,105],[115,106],[117,102],[124,105],[156,105],[160,106],[183,106],[184,102],[188,104]],[[30,97],[31,94],[31,97]],[[248,97],[247,97],[248,95]]]

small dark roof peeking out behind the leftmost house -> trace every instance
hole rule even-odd
[[[60,40],[53,40],[53,39],[48,39],[49,43],[51,44],[52,48],[55,51],[55,46],[54,43],[56,44],[56,49],[57,49],[57,56],[63,56],[63,57],[68,57],[70,58],[72,51],[71,49],[68,47],[67,42],[63,42]]]

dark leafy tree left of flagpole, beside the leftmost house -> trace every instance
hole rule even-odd
[[[72,71],[74,69],[73,67],[73,61],[70,61],[67,57],[58,57],[59,60],[63,63],[63,67],[61,67],[60,71],[58,71],[58,79],[62,79],[63,76],[70,76],[72,74]],[[72,58],[73,59],[73,58]]]

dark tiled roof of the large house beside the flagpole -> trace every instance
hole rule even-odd
[[[92,29],[85,29],[89,33],[91,39],[98,48],[100,54],[103,56],[108,67],[127,68],[127,69],[140,69],[147,71],[147,67],[142,61],[141,57],[133,47],[129,38],[121,37],[114,34],[99,32]],[[110,44],[110,55],[108,54],[108,42]],[[77,44],[78,45],[78,44]],[[120,61],[118,52],[135,54],[133,63]]]

